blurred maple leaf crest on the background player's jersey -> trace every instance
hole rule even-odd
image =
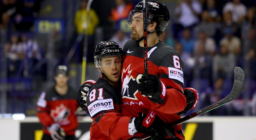
[[[52,109],[50,116],[54,119],[55,122],[63,122],[68,121],[67,118],[70,115],[70,109],[61,104],[57,106],[56,109]]]

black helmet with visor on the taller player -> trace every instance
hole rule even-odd
[[[134,10],[130,11],[128,24],[131,24],[131,22],[133,22],[132,17],[137,12],[143,13],[143,1],[139,2],[135,6]],[[160,21],[157,30],[164,31],[170,19],[169,10],[163,3],[148,0],[147,1],[147,23],[150,23],[152,20],[156,21],[159,18],[163,18],[163,20]]]

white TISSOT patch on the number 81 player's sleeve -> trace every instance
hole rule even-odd
[[[99,113],[100,111],[111,110],[111,109],[114,109],[114,104],[112,99],[97,100],[88,106],[88,110],[91,117],[93,117],[93,115]]]

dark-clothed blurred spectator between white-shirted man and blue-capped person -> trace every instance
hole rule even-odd
[[[239,25],[233,21],[232,13],[230,11],[223,14],[223,22],[221,24],[222,34],[225,34],[224,31],[227,28],[231,28],[235,34],[238,34],[239,32]]]

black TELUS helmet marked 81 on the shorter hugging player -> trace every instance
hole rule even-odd
[[[95,67],[98,68],[99,72],[104,76],[100,70],[100,59],[103,57],[117,56],[121,57],[121,62],[123,63],[125,59],[125,54],[119,45],[114,41],[103,41],[99,42],[94,51],[94,63]]]

